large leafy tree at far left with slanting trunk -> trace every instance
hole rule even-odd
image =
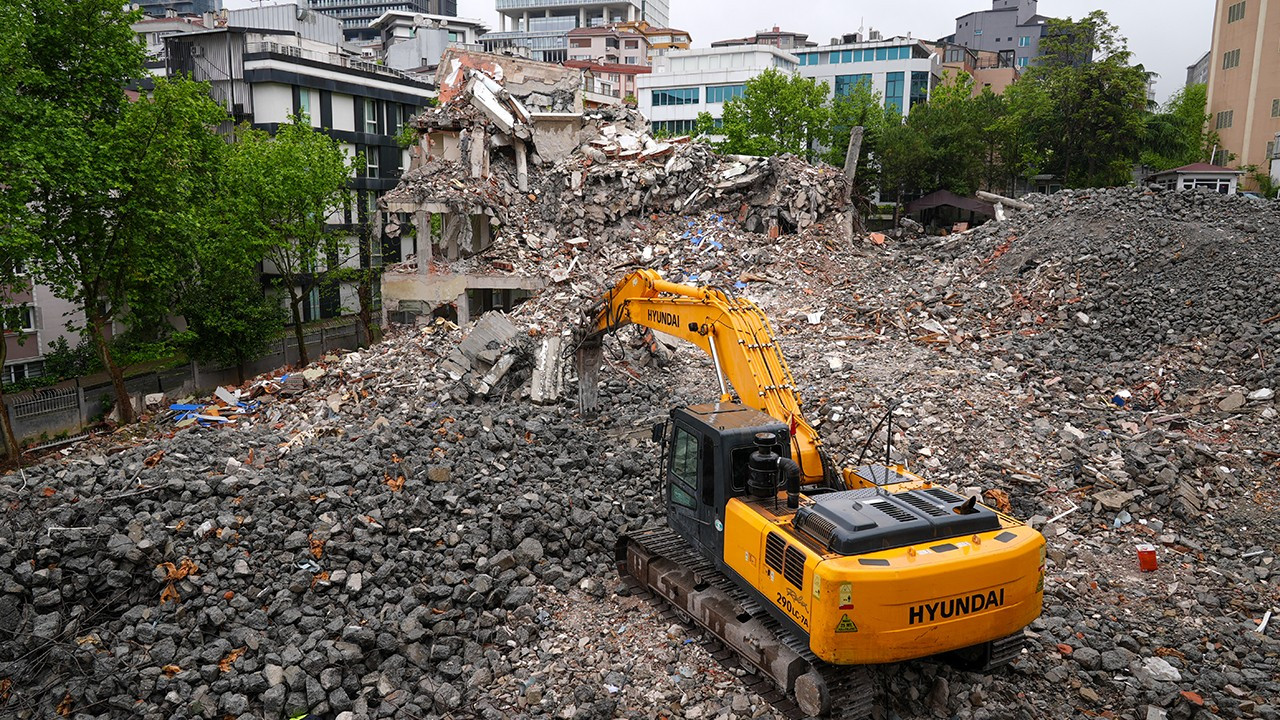
[[[23,160],[13,174],[6,168],[6,182],[38,215],[18,225],[38,240],[29,269],[83,309],[83,331],[110,373],[120,420],[131,423],[109,333],[116,320],[154,319],[172,307],[223,145],[212,128],[225,114],[206,87],[183,79],[157,81],[151,97],[129,100],[124,86],[145,77],[145,54],[129,28],[137,13],[115,0],[5,5],[5,20],[17,22],[0,32],[24,33],[0,42],[20,46],[18,64],[9,65],[17,81],[3,86],[9,96],[0,105],[17,99],[5,124],[24,128],[6,131],[17,143],[9,152]]]

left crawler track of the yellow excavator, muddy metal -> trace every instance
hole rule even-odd
[[[870,717],[876,689],[867,667],[819,660],[666,524],[620,537],[616,559],[634,594],[662,609],[663,619],[705,630],[714,638],[703,643],[712,657],[748,670],[746,687],[790,720]]]

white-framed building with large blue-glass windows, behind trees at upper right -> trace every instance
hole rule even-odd
[[[884,97],[884,106],[906,115],[929,99],[942,79],[942,58],[933,46],[910,37],[856,41],[796,53],[800,74],[827,83],[827,92],[847,95],[859,83]]]

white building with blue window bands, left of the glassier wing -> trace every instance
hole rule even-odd
[[[741,96],[746,81],[769,68],[791,73],[800,60],[768,45],[673,50],[636,79],[640,113],[654,132],[687,135],[699,113],[721,120],[724,101]]]

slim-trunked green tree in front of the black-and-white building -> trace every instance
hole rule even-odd
[[[302,120],[302,122],[300,122]],[[342,145],[293,118],[275,137],[248,127],[236,133],[230,173],[238,178],[232,202],[234,223],[260,238],[266,270],[288,296],[298,363],[310,363],[302,329],[302,301],[339,270],[349,241],[332,232],[329,218],[349,204],[347,181],[360,159]]]

